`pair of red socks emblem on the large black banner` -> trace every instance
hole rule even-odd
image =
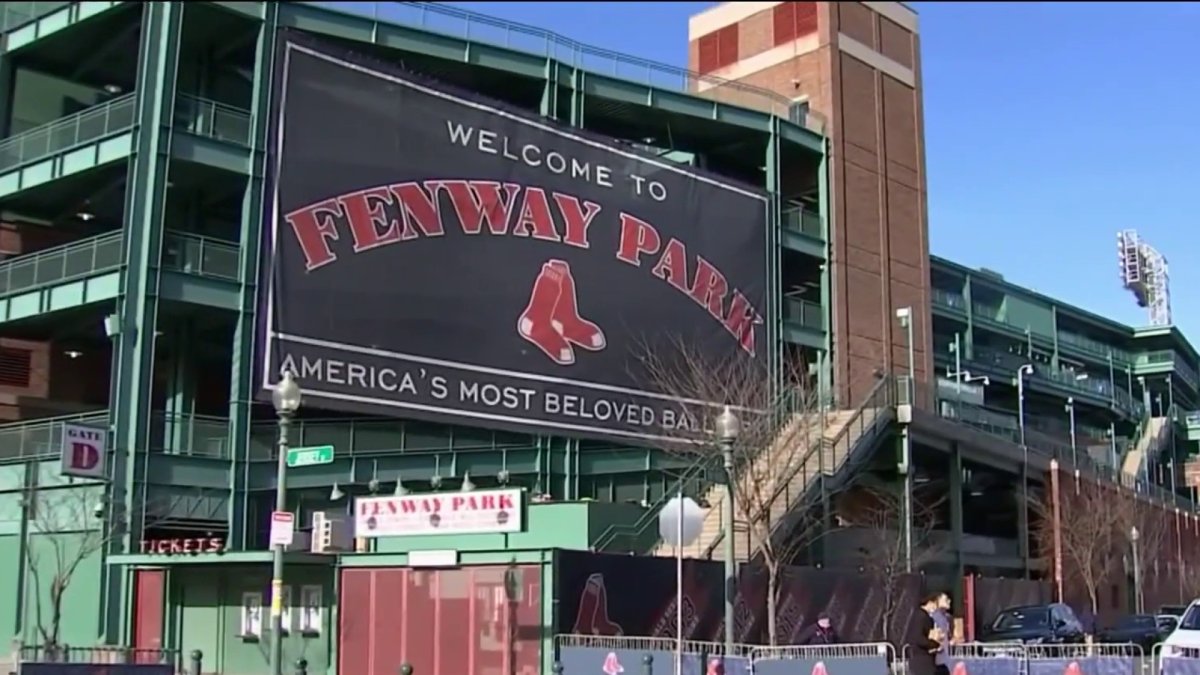
[[[558,365],[575,363],[575,347],[604,350],[604,330],[580,316],[575,277],[565,261],[546,261],[533,282],[529,305],[517,319],[517,333]]]

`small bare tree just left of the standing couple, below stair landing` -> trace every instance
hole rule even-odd
[[[947,500],[944,489],[940,492],[926,485],[913,495],[911,519],[913,573],[946,551],[944,542],[934,537],[936,512]],[[863,483],[844,497],[839,503],[838,515],[842,525],[857,530],[854,542],[858,565],[882,591],[882,638],[889,640],[901,589],[910,574],[908,552],[905,546],[904,484]]]

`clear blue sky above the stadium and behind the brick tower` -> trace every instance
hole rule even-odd
[[[684,66],[688,17],[712,2],[451,5]],[[932,252],[1141,325],[1116,257],[1136,228],[1200,345],[1200,4],[913,5]]]

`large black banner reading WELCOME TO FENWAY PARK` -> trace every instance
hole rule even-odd
[[[691,422],[640,357],[766,358],[763,193],[280,43],[264,390],[292,369],[331,410],[677,437]]]

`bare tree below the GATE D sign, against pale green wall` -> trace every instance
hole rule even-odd
[[[101,483],[30,488],[25,491],[30,540],[25,567],[34,583],[34,620],[42,649],[53,658],[61,646],[64,599],[79,568],[126,531],[127,519],[110,513]]]

